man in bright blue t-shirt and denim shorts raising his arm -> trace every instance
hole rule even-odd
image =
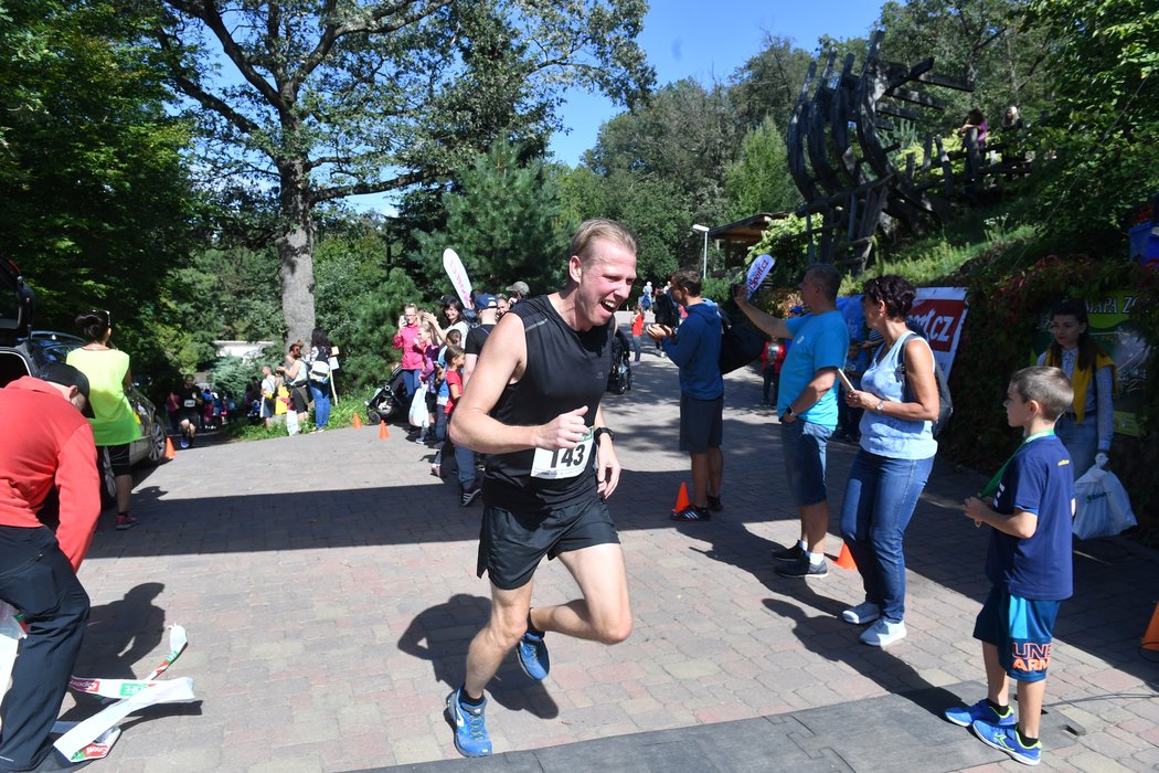
[[[734,299],[745,316],[766,334],[793,342],[781,366],[777,415],[781,420],[785,473],[801,516],[801,539],[773,553],[785,577],[824,577],[829,493],[825,489],[825,445],[837,426],[837,371],[845,365],[850,331],[837,311],[841,275],[822,263],[806,271],[801,301],[809,313],[782,320],[749,302],[738,285]]]

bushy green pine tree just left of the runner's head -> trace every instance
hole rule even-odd
[[[418,235],[418,261],[436,287],[447,287],[443,250],[453,248],[475,287],[495,292],[519,279],[533,292],[562,284],[567,225],[555,180],[541,159],[520,162],[520,148],[496,143],[455,174],[457,190],[443,197],[446,227]],[[435,292],[431,294],[442,294]]]

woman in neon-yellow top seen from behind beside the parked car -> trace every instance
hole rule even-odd
[[[129,446],[141,436],[140,418],[125,396],[132,384],[129,355],[109,345],[112,321],[108,312],[85,312],[76,316],[76,326],[88,343],[68,352],[65,362],[88,377],[89,402],[96,414],[88,421],[97,450],[108,449],[117,484],[117,528],[124,531],[140,523],[129,513],[133,490]]]

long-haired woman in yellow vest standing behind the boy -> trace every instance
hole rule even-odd
[[[1069,298],[1060,302],[1050,328],[1055,340],[1038,364],[1062,369],[1074,388],[1074,401],[1055,424],[1055,435],[1071,453],[1071,468],[1078,479],[1096,461],[1106,465],[1110,453],[1115,363],[1091,340],[1084,301]]]

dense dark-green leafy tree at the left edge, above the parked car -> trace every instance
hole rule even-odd
[[[187,126],[138,43],[150,23],[107,0],[0,2],[0,251],[36,289],[38,327],[107,308],[134,370],[163,360],[166,277],[197,213]]]

